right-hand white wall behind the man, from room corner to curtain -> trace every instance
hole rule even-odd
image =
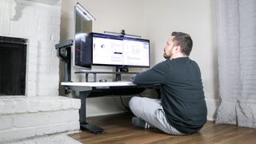
[[[154,52],[153,64],[163,61],[163,47],[173,31],[190,34],[194,46],[190,58],[202,73],[208,119],[214,118],[218,101],[218,62],[213,0],[145,0],[146,37]]]

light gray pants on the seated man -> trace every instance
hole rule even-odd
[[[166,134],[185,135],[167,122],[160,100],[133,97],[130,99],[129,106],[134,115],[148,122],[150,126],[154,126]]]

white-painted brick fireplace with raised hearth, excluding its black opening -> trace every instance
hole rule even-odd
[[[79,129],[80,100],[58,96],[61,2],[0,0],[0,36],[28,40],[25,95],[0,95],[0,143]]]

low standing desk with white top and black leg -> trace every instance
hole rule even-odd
[[[154,88],[154,86],[137,86],[132,82],[62,82],[62,86],[67,86],[79,94],[81,99],[81,108],[79,110],[80,128],[82,130],[89,130],[94,134],[101,134],[103,129],[86,122],[86,98],[93,92],[99,91],[102,95],[109,94],[139,94],[147,88]],[[118,90],[117,90],[118,89]],[[114,91],[109,91],[114,90]],[[126,90],[123,91],[122,90]],[[107,93],[105,93],[107,91]],[[110,92],[110,93],[109,93]],[[113,93],[114,92],[114,93]],[[132,92],[132,93],[131,93]],[[105,93],[105,94],[104,94]]]

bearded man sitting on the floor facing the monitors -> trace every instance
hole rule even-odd
[[[189,58],[192,46],[189,34],[173,32],[164,48],[166,61],[135,75],[135,84],[160,84],[161,99],[131,98],[134,126],[152,126],[166,134],[185,135],[197,132],[206,123],[201,72]]]

